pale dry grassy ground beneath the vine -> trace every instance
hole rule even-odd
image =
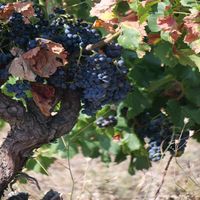
[[[41,191],[33,183],[15,184],[14,188],[31,194],[31,200],[41,199],[50,188],[62,193],[64,200],[154,200],[168,160],[166,156],[150,170],[130,176],[128,161],[106,166],[98,159],[77,155],[70,161],[71,175],[63,159],[50,167],[48,176],[28,172],[38,180]],[[181,158],[172,160],[157,199],[200,200],[200,144],[195,140],[189,141]]]

